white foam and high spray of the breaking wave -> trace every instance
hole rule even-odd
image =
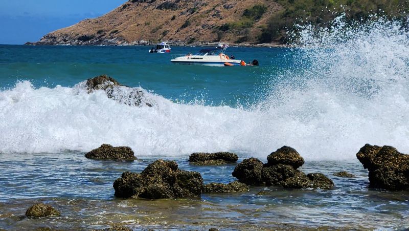
[[[251,110],[146,91],[154,107],[129,107],[103,91],[18,82],[0,92],[0,152],[86,152],[109,143],[137,156],[230,150],[264,159],[290,145],[307,160],[338,160],[372,143],[408,153],[408,35],[382,18],[360,27],[343,20],[329,30],[302,28],[297,68],[271,76],[271,91]]]

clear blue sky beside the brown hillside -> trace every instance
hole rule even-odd
[[[48,32],[101,16],[127,0],[0,0],[0,44],[37,41]]]

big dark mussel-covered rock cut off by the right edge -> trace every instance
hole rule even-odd
[[[365,144],[356,157],[369,171],[370,187],[409,189],[409,155],[398,152],[392,146]]]

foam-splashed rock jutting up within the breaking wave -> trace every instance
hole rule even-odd
[[[103,90],[108,98],[127,104],[128,106],[141,107],[146,105],[152,107],[152,102],[146,99],[142,88],[124,86],[114,78],[106,75],[87,79],[85,87],[88,93],[92,93],[95,90]]]

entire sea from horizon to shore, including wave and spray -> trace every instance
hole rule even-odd
[[[170,54],[150,54],[150,47],[0,45],[0,228],[409,228],[408,192],[369,188],[355,157],[366,143],[409,153],[407,30],[379,19],[316,32],[304,28],[297,48],[228,49],[259,67],[174,65]],[[200,49],[172,47],[171,54]],[[88,94],[83,81],[101,74],[141,88],[153,107]],[[102,143],[130,146],[139,160],[84,157]],[[205,183],[228,183],[235,164],[195,166],[189,154],[232,151],[239,162],[266,162],[283,145],[304,157],[302,171],[324,173],[334,190],[113,196],[124,171],[140,172],[158,158],[200,172]],[[339,171],[356,177],[332,175]],[[62,216],[25,218],[37,202]]]

